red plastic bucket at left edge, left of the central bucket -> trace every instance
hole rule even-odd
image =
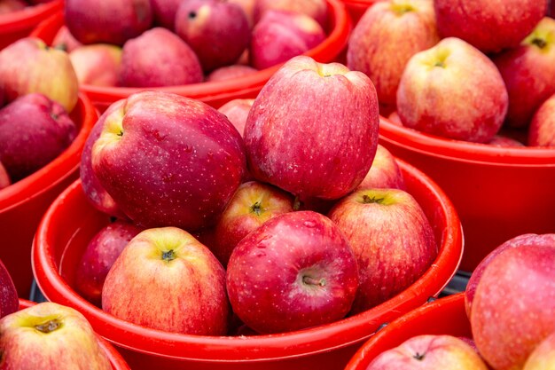
[[[71,146],[34,174],[0,190],[0,259],[23,297],[29,295],[33,281],[31,246],[36,227],[51,202],[79,176],[82,148],[98,119],[83,94],[70,115],[79,128]]]

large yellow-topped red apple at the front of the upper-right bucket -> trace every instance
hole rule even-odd
[[[397,113],[404,126],[477,143],[496,135],[508,104],[493,62],[455,37],[415,54],[397,90]]]

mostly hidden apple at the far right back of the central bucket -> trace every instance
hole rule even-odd
[[[386,188],[405,190],[404,177],[399,164],[385,146],[378,144],[374,161],[356,190]]]

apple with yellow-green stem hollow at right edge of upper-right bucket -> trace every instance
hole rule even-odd
[[[543,18],[520,45],[493,57],[509,93],[506,123],[528,126],[555,93],[555,20]]]

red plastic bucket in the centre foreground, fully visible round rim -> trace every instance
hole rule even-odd
[[[88,241],[109,220],[93,209],[79,181],[45,214],[33,249],[35,279],[51,301],[81,311],[95,330],[139,369],[340,369],[384,322],[439,294],[457,271],[463,240],[457,212],[442,190],[400,161],[408,191],[433,225],[440,252],[430,269],[401,294],[348,319],[291,333],[258,336],[178,335],[130,324],[101,311],[74,291],[74,270]],[[139,299],[137,297],[137,299]]]

